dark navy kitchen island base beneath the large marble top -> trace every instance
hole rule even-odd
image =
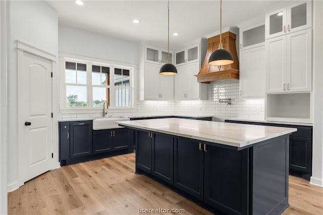
[[[289,136],[235,148],[136,130],[136,173],[216,214],[280,214],[288,206]]]

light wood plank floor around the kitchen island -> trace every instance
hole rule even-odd
[[[211,214],[153,180],[134,174],[134,168],[135,155],[128,154],[46,172],[8,193],[8,212],[138,214],[138,208],[160,207],[185,209],[185,214]],[[323,188],[290,176],[289,203],[283,214],[323,214]]]

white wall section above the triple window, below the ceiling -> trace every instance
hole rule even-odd
[[[83,56],[138,63],[138,44],[59,25],[59,51]]]

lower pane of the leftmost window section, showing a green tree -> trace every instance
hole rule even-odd
[[[86,86],[66,86],[67,107],[87,106]]]

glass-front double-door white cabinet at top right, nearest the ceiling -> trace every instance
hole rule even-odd
[[[266,39],[300,31],[312,26],[311,1],[298,2],[265,16]]]

